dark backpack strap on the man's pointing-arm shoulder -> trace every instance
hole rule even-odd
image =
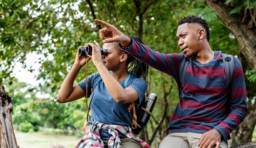
[[[184,57],[181,61],[181,64],[179,65],[179,96],[181,96],[181,90],[184,86],[186,71],[189,66],[189,59],[187,57]]]

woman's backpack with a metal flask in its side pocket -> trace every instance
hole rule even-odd
[[[131,76],[131,74],[129,73],[128,77],[124,80],[123,88],[127,88],[130,85],[130,82],[131,82],[131,81],[129,81],[130,76]],[[99,82],[102,81],[102,78],[100,77],[99,73],[97,73],[95,75],[94,81],[95,81],[94,88],[96,88],[97,84],[99,84]],[[156,94],[154,94],[154,93],[151,93],[148,97],[148,100],[154,101],[153,104],[152,103],[150,104],[150,106],[152,106],[152,108],[155,105],[156,99],[157,99],[157,97],[156,97]],[[139,104],[139,106],[137,106],[137,109],[135,107],[135,103],[131,103],[128,107],[128,112],[133,110],[132,132],[135,136],[137,136],[140,133],[141,128],[143,128],[146,125],[146,123],[148,123],[149,118],[151,116],[152,109],[148,110],[148,107],[147,107],[147,105],[149,106],[148,100],[146,100],[145,96],[144,96],[143,102],[141,102],[141,104]],[[89,109],[89,111],[90,111],[90,109]],[[85,120],[85,122],[86,122],[86,120]],[[86,126],[86,123],[84,124],[83,131],[85,130],[85,126]]]

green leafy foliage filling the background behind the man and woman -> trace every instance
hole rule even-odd
[[[134,2],[91,1],[96,18],[110,22],[127,35],[139,36],[139,14]],[[210,45],[213,50],[233,55],[238,53],[236,38],[222,25],[214,10],[204,1],[163,0],[154,2],[149,7],[145,6],[152,1],[139,2],[139,13],[147,8],[142,18],[143,41],[152,49],[161,53],[180,53],[176,39],[178,20],[184,16],[196,15],[209,22]],[[233,9],[232,15],[256,6],[256,2],[249,0],[228,0],[226,4]],[[94,23],[86,1],[0,2],[0,83],[7,86],[12,98],[14,124],[30,123],[34,130],[39,126],[81,129],[86,115],[84,100],[59,104],[56,102],[56,96],[73,65],[77,48],[94,40],[101,41],[98,30],[99,26]],[[24,68],[28,67],[25,64],[25,60],[30,58],[26,56],[28,53],[42,55],[37,61],[41,65],[40,74],[37,76],[37,79],[41,80],[39,88],[20,83],[12,75],[15,62],[21,62]],[[33,71],[32,67],[28,68]],[[88,73],[95,71],[94,65],[89,61]],[[255,82],[255,70],[249,70],[248,73],[250,81]],[[75,84],[84,78],[85,67],[80,70]],[[164,112],[164,86],[165,91],[173,87],[167,95],[167,118],[170,118],[178,103],[176,83],[170,76],[151,68],[148,92],[159,96],[153,112],[157,120]],[[51,96],[39,99],[36,97],[37,92]],[[156,126],[153,119],[150,120],[148,129]],[[168,126],[168,119],[164,122],[163,131]],[[155,145],[158,142],[156,141]]]

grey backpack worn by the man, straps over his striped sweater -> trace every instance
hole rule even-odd
[[[230,54],[222,53],[222,59],[224,62],[224,69],[226,74],[226,89],[227,89],[227,110],[226,116],[231,112],[231,83],[232,83],[232,76],[235,70],[235,62],[233,56]],[[181,90],[184,86],[186,71],[190,64],[190,59],[185,57],[182,59],[181,64],[179,65],[179,96],[181,96]],[[230,139],[230,135],[228,135],[228,139]]]

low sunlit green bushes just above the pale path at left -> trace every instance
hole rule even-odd
[[[59,104],[54,100],[36,98],[23,82],[8,86],[7,92],[14,105],[13,123],[20,125],[28,122],[34,131],[39,127],[81,129],[85,120],[86,109],[83,100],[74,103]],[[23,91],[21,91],[23,90]],[[25,96],[29,95],[29,98]]]

